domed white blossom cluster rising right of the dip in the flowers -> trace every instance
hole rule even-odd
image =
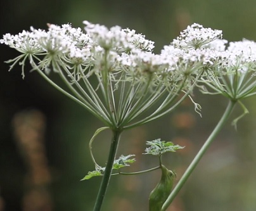
[[[179,70],[181,74],[191,74],[200,69],[210,69],[223,63],[226,40],[221,30],[205,29],[194,23],[164,46],[161,54],[174,61],[170,70]]]

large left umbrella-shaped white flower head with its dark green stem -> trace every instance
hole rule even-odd
[[[21,65],[24,78],[25,61],[29,60],[32,71],[113,131],[94,207],[99,210],[122,131],[174,110],[191,93],[203,69],[201,58],[195,61],[176,54],[152,53],[153,42],[134,30],[84,24],[86,33],[69,24],[48,24],[47,31],[31,27],[30,32],[6,34],[0,42],[20,52],[8,61],[10,70]],[[193,71],[186,68],[189,63],[196,65]],[[53,74],[59,75],[65,87],[51,79]]]

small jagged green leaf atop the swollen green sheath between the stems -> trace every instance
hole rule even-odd
[[[161,141],[161,139],[147,141],[146,144],[150,147],[146,148],[146,153],[144,154],[150,155],[163,155],[163,153],[175,152],[184,148],[184,146],[179,146],[178,144],[174,144],[171,141]]]

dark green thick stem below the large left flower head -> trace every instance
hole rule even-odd
[[[96,203],[94,205],[93,211],[101,210],[101,205],[105,198],[106,189],[108,188],[108,183],[110,181],[113,162],[115,160],[115,155],[117,153],[118,143],[120,140],[120,135],[122,131],[114,131],[113,130],[113,137],[110,145],[110,152],[108,154],[108,161],[106,163],[105,173],[103,175],[103,179],[101,181],[101,186],[99,187],[98,196],[96,198]]]

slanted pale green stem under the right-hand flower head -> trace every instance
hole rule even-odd
[[[177,194],[181,190],[184,183],[188,180],[188,177],[191,175],[191,173],[193,172],[196,165],[198,164],[200,159],[203,157],[203,155],[207,151],[207,149],[210,146],[210,144],[212,143],[212,141],[215,139],[217,134],[219,134],[219,132],[221,131],[221,129],[224,126],[227,118],[229,118],[229,116],[231,115],[231,112],[232,112],[235,104],[236,104],[236,101],[231,101],[231,100],[229,101],[229,104],[227,105],[227,108],[226,108],[224,114],[222,115],[221,120],[219,120],[219,123],[214,128],[214,131],[212,131],[212,133],[208,137],[207,141],[205,141],[202,148],[198,151],[196,157],[190,163],[188,169],[186,170],[186,172],[184,172],[183,176],[181,177],[181,179],[177,183],[176,187],[173,189],[172,193],[170,193],[170,195],[167,198],[167,200],[165,201],[165,203],[163,203],[162,211],[165,211],[169,207],[170,203],[172,203],[174,198],[177,196]]]

